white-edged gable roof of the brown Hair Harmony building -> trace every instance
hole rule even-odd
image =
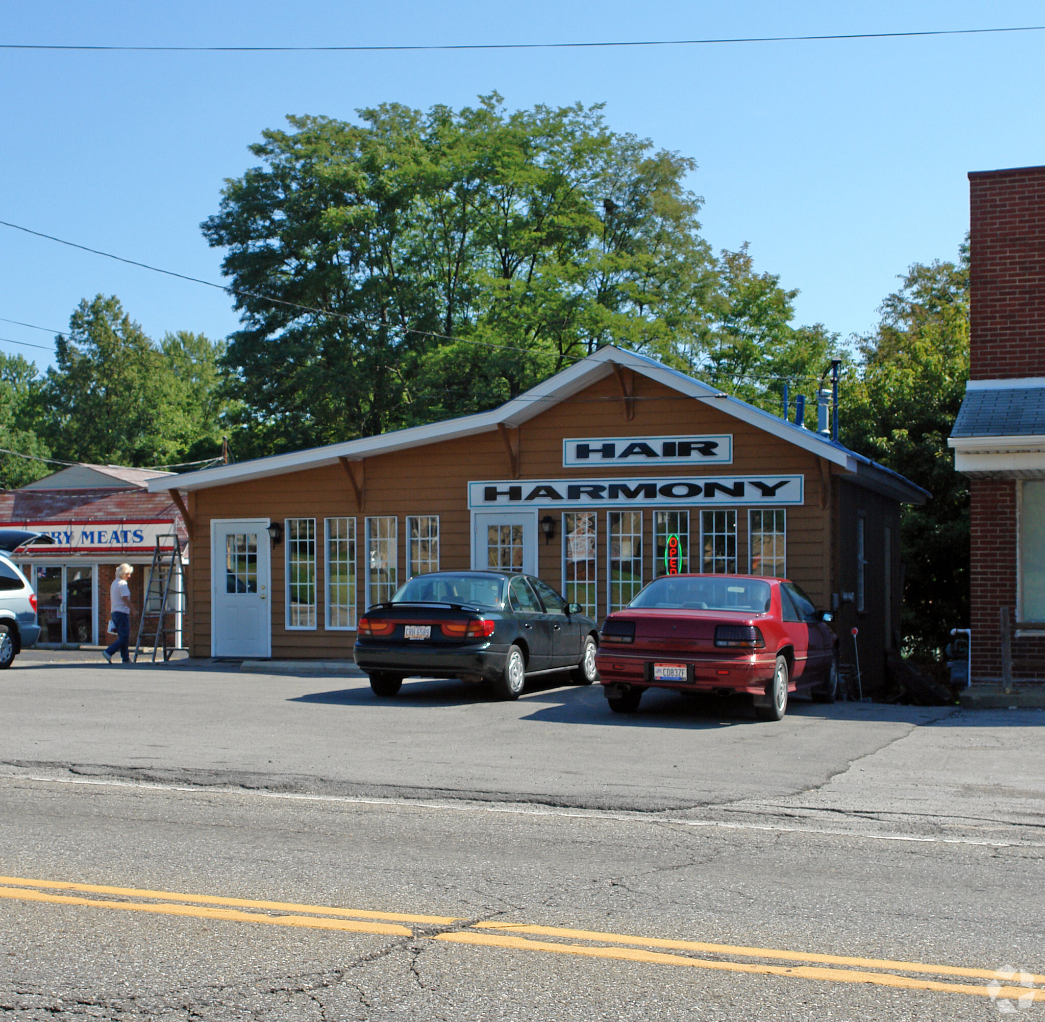
[[[311,447],[287,455],[273,455],[269,458],[258,458],[234,465],[220,465],[172,478],[155,479],[149,482],[148,488],[152,492],[157,492],[159,490],[198,490],[212,486],[227,486],[230,483],[242,483],[263,479],[268,475],[335,465],[341,458],[359,461],[374,455],[391,454],[395,450],[403,450],[427,443],[439,443],[445,440],[474,436],[479,433],[488,433],[495,431],[498,426],[514,427],[539,415],[552,404],[565,401],[593,384],[611,376],[616,371],[614,367],[631,369],[695,400],[714,401],[715,408],[726,415],[732,415],[742,422],[747,422],[765,433],[841,466],[846,472],[857,477],[856,482],[869,489],[914,504],[923,504],[929,496],[929,493],[904,479],[903,475],[850,450],[842,444],[832,441],[830,437],[803,428],[793,422],[787,422],[769,412],[756,408],[753,404],[732,397],[709,384],[687,376],[678,370],[670,369],[654,358],[625,351],[612,345],[600,348],[586,358],[549,377],[525,394],[520,394],[489,412],[465,415],[457,419],[445,419],[442,422],[433,422],[428,425],[412,426],[409,429],[396,429],[376,437],[363,437],[359,440],[328,444],[325,447]]]

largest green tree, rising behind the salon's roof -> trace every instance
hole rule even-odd
[[[599,107],[359,117],[265,132],[203,225],[242,313],[225,366],[254,452],[490,408],[610,341],[676,363],[699,344],[691,160]]]

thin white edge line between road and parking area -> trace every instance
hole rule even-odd
[[[89,785],[101,788],[139,788],[150,791],[181,791],[201,795],[236,795],[238,797],[274,798],[286,802],[340,803],[355,806],[391,806],[403,809],[425,809],[434,812],[503,813],[514,816],[555,816],[565,819],[612,820],[625,823],[670,823],[675,827],[705,828],[725,831],[761,831],[772,834],[811,834],[818,837],[844,837],[862,841],[906,841],[920,844],[959,844],[973,847],[1009,849],[1045,847],[1045,841],[1001,841],[969,837],[928,837],[921,834],[867,834],[827,827],[795,827],[783,823],[739,823],[711,819],[687,819],[678,816],[660,816],[655,813],[610,812],[601,809],[557,809],[554,806],[482,805],[477,803],[422,802],[411,798],[378,798],[363,795],[317,795],[285,791],[253,791],[223,785],[177,785],[156,781],[122,781],[114,777],[42,777],[36,774],[0,773],[0,781],[32,781],[40,784]],[[1019,827],[1019,823],[1008,823]]]

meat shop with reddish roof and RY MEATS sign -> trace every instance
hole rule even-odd
[[[169,495],[149,493],[155,469],[112,465],[73,465],[17,490],[0,492],[0,526],[47,533],[49,547],[18,552],[18,561],[37,590],[40,602],[40,642],[51,644],[108,644],[109,588],[116,566],[135,566],[131,598],[144,607],[142,641],[156,635],[159,594],[145,600],[144,589],[156,541],[169,550],[176,533],[187,551],[188,536]],[[159,580],[154,581],[154,590]],[[132,618],[131,638],[139,618]],[[176,618],[168,644],[177,645],[181,621]]]

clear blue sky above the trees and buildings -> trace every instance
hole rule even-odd
[[[1040,2],[0,0],[0,42],[391,45],[916,31],[1045,24]],[[427,53],[0,51],[0,219],[220,282],[199,225],[286,114],[399,101],[605,102],[613,129],[695,158],[703,233],[847,335],[912,262],[955,256],[969,170],[1045,163],[1045,32]],[[0,318],[65,329],[115,294],[152,335],[224,336],[218,291],[0,228]],[[0,322],[0,338],[52,339]],[[47,351],[0,342],[41,367]]]

